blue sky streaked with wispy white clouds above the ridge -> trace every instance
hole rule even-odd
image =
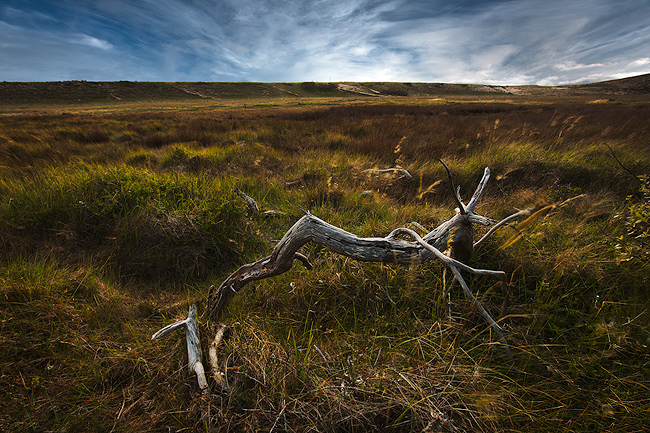
[[[559,85],[650,72],[650,0],[0,0],[0,81]]]

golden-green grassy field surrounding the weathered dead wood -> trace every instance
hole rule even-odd
[[[650,104],[305,91],[0,109],[0,430],[647,428],[649,198],[621,164],[650,173]],[[448,219],[438,158],[465,198],[490,167],[481,215],[536,211],[470,263],[508,275],[513,363],[440,264],[313,245],[222,318],[230,393],[200,394],[181,334],[150,340],[300,208],[360,236]],[[413,179],[364,172],[388,167]],[[496,282],[468,281],[496,316]]]

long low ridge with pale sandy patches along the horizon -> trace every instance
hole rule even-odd
[[[650,74],[565,86],[339,82],[225,83],[52,81],[0,82],[0,106],[38,103],[110,103],[201,99],[313,97],[500,97],[650,95]]]

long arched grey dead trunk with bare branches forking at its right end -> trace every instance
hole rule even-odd
[[[442,164],[445,165],[444,162]],[[487,167],[485,168],[476,191],[469,203],[465,205],[460,198],[458,190],[453,186],[451,172],[446,165],[445,169],[447,170],[454,199],[458,206],[457,213],[424,237],[420,237],[413,230],[398,228],[383,238],[360,238],[306,212],[306,215],[300,218],[285,233],[273,249],[271,255],[254,263],[243,265],[226,278],[218,288],[215,289],[214,286],[210,288],[206,314],[211,316],[213,320],[217,320],[227,308],[233,296],[242,290],[247,283],[287,272],[293,267],[295,259],[303,262],[305,266],[310,266],[306,257],[298,253],[298,250],[307,242],[317,243],[332,252],[366,262],[412,265],[438,259],[453,272],[455,279],[460,283],[465,295],[494,329],[510,356],[510,349],[502,328],[480,305],[460,273],[460,270],[464,270],[474,274],[499,277],[501,279],[504,297],[507,299],[505,272],[474,269],[463,263],[469,260],[474,252],[473,224],[488,226],[495,223],[495,221],[474,212],[490,177],[490,170]],[[508,217],[502,223],[514,219],[521,214],[522,212],[518,212]],[[414,242],[400,238],[400,236],[405,235],[412,238]],[[447,255],[443,254],[442,251],[447,251]],[[505,304],[506,302],[504,302]]]

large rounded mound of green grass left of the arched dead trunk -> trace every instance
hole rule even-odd
[[[21,254],[91,255],[127,279],[180,281],[241,256],[247,229],[231,196],[218,180],[82,165],[17,186],[2,218]]]

